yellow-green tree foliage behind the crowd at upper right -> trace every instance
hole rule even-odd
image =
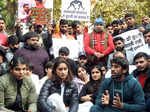
[[[133,13],[139,23],[141,17],[148,14],[148,4],[148,1],[144,0],[100,0],[91,12],[91,20],[101,16],[106,23],[110,23],[113,19],[123,18],[126,13]]]

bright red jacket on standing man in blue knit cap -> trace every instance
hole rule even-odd
[[[108,34],[108,40],[107,40],[107,48],[104,50],[104,38],[105,38],[105,32],[103,33],[95,33],[92,32],[92,42],[94,42],[93,48],[90,46],[90,34],[84,35],[84,49],[86,54],[94,54],[94,52],[100,52],[103,53],[105,56],[110,54],[114,50],[114,44],[113,44],[113,37]]]

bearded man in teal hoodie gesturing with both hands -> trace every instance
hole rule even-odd
[[[145,109],[144,92],[128,71],[126,59],[111,60],[112,76],[103,81],[90,112],[142,112]]]

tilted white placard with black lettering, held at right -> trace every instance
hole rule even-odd
[[[125,49],[134,53],[138,48],[145,46],[143,34],[138,29],[122,33],[116,37],[122,37],[125,41]]]

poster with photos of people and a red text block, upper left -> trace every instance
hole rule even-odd
[[[18,0],[18,19],[23,23],[48,24],[52,9],[53,0]]]

